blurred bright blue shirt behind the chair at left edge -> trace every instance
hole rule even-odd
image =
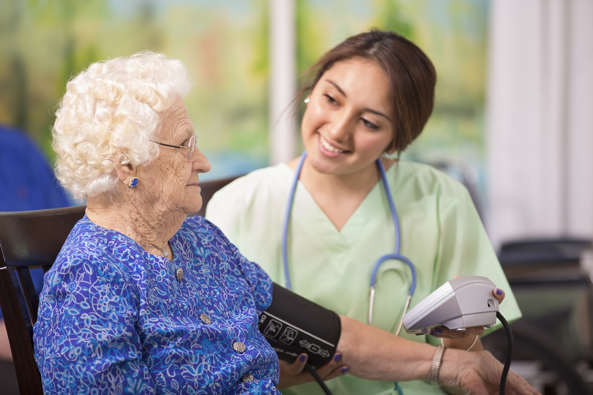
[[[0,211],[69,205],[49,163],[24,131],[0,125]],[[31,270],[31,277],[39,294],[43,287],[43,270]]]

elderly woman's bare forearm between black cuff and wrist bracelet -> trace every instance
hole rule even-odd
[[[429,380],[435,347],[400,338],[377,327],[340,316],[337,351],[349,374],[368,380]]]

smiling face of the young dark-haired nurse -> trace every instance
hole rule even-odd
[[[327,70],[309,96],[301,133],[308,160],[324,174],[350,174],[371,165],[393,139],[389,80],[377,63],[359,57]]]

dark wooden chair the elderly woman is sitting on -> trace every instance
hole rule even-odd
[[[200,183],[202,209],[196,214],[203,216],[212,195],[235,178]],[[23,395],[43,394],[33,350],[33,325],[37,322],[39,299],[29,270],[43,268],[47,272],[52,267],[72,227],[84,216],[85,208],[81,205],[0,212],[0,308],[18,388]]]

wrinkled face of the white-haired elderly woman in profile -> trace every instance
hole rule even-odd
[[[194,134],[187,107],[177,97],[165,112],[155,141],[188,146]],[[157,204],[165,211],[195,213],[202,207],[198,175],[210,171],[210,168],[208,159],[197,146],[191,160],[187,160],[186,149],[159,146],[157,159],[139,169],[139,184],[146,187],[142,198],[151,200],[146,203]]]

